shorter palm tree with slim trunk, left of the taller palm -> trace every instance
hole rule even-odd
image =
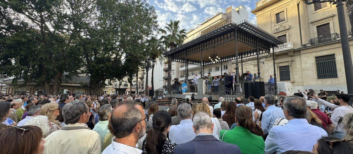
[[[160,65],[163,65],[164,62],[164,56],[163,56],[163,52],[165,51],[162,45],[162,41],[158,40],[156,37],[152,37],[149,40],[149,48],[150,48],[150,58],[152,58],[152,60],[159,60]],[[154,89],[154,83],[153,83],[153,74],[154,74],[154,66],[152,64],[152,77],[151,77],[151,85],[152,85],[152,89]]]

